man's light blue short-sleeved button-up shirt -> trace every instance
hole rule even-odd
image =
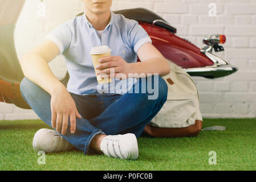
[[[124,94],[137,81],[136,78],[115,78],[115,84],[99,85],[89,53],[92,47],[108,46],[112,49],[111,55],[121,56],[127,63],[136,63],[137,50],[147,42],[152,43],[147,32],[137,21],[112,12],[111,20],[101,32],[101,36],[97,34],[84,13],[60,24],[46,36],[46,39],[54,42],[60,54],[65,57],[70,75],[68,92],[80,95],[99,94],[99,88],[101,93]]]

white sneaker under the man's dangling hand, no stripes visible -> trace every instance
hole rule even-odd
[[[36,152],[44,151],[47,153],[67,151],[74,147],[60,136],[57,131],[50,129],[36,131],[32,144]]]

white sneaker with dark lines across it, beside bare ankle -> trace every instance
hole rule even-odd
[[[137,159],[139,155],[135,134],[108,135],[100,143],[100,150],[107,156],[121,159]]]

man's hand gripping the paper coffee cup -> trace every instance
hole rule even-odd
[[[116,77],[118,73],[123,73],[128,78],[128,74],[132,73],[131,64],[123,60],[121,56],[106,56],[99,59],[99,63],[100,64],[96,66],[96,69],[100,70],[96,72],[97,75],[104,73],[108,77]],[[110,75],[111,69],[115,70],[115,75]]]

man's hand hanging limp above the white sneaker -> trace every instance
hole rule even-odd
[[[66,88],[62,88],[51,96],[51,125],[56,131],[66,134],[68,127],[68,117],[70,118],[70,133],[76,130],[76,118],[81,115],[76,109],[75,101]]]

